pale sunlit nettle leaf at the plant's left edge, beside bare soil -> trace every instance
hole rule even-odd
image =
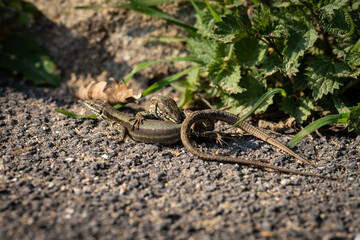
[[[188,38],[187,44],[192,55],[205,65],[210,64],[216,58],[216,43],[214,42],[207,41],[206,39]]]

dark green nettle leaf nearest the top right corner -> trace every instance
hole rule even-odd
[[[325,31],[335,37],[346,37],[354,32],[354,22],[349,12],[344,9],[333,10],[334,14],[322,11],[318,24]]]

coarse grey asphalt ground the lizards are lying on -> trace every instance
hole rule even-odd
[[[360,137],[295,148],[331,181],[119,143],[105,122],[54,111],[84,114],[76,100],[3,72],[0,85],[0,239],[360,239]],[[224,151],[316,172],[251,136]]]

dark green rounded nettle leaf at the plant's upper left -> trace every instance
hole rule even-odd
[[[235,42],[246,36],[246,26],[243,21],[234,14],[227,14],[222,18],[222,22],[217,22],[214,30],[214,37],[224,43]]]

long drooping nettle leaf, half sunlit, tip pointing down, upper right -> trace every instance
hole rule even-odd
[[[299,58],[302,57],[307,49],[312,47],[318,38],[315,29],[302,28],[290,29],[290,37],[286,41],[284,54],[284,70],[287,75],[293,75],[298,72],[300,65]]]

